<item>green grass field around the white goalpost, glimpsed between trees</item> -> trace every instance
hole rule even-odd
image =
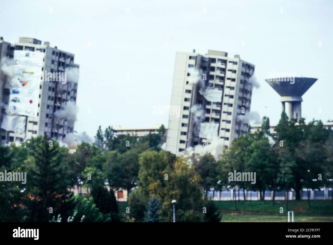
[[[234,201],[215,201],[222,212],[222,222],[288,222],[288,211],[294,211],[294,222],[333,222],[331,200],[289,201],[288,210],[285,201],[239,201],[235,210]],[[119,212],[125,212],[127,202],[119,202]],[[283,213],[280,213],[283,207]]]

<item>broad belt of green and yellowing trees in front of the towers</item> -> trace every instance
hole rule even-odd
[[[27,173],[26,184],[0,182],[0,221],[169,222],[175,199],[177,221],[213,222],[221,214],[209,200],[210,190],[213,196],[224,189],[234,195],[238,190],[238,196],[239,189],[259,191],[264,200],[265,190],[293,189],[299,200],[303,188],[332,187],[331,129],[321,121],[288,120],[285,113],[275,134],[269,128],[264,117],[260,130],[234,139],[219,159],[162,150],[164,126],[145,137],[115,136],[112,127],[99,127],[95,143],[82,142],[74,153],[45,136],[0,146],[0,172]],[[229,181],[234,170],[256,172],[255,184]],[[75,196],[69,191],[74,186],[89,193]],[[119,210],[114,195],[120,189],[129,194],[126,210]]]

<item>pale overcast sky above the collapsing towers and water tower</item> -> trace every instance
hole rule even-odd
[[[12,0],[1,1],[0,36],[49,41],[75,54],[75,130],[94,136],[99,125],[167,126],[168,115],[153,115],[153,106],[170,105],[176,51],[193,49],[254,64],[261,86],[251,111],[271,123],[281,103],[264,81],[269,72],[318,78],[302,96],[302,116],[332,120],[332,19],[333,1]]]

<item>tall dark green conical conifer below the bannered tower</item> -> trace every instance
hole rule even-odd
[[[30,221],[47,222],[51,216],[58,213],[67,213],[63,203],[69,199],[67,182],[63,177],[66,175],[62,168],[62,156],[59,153],[59,144],[52,143],[48,138],[39,136],[32,139],[35,145],[33,157],[36,167],[32,170],[34,178],[32,185],[35,190],[28,194],[30,201]],[[73,208],[66,202],[66,207]],[[52,209],[51,209],[52,208]],[[50,211],[52,210],[52,212]]]

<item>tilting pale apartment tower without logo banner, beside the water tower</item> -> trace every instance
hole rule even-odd
[[[177,52],[171,107],[180,107],[180,115],[169,116],[166,150],[178,154],[215,139],[228,147],[247,133],[253,73],[239,55]]]

